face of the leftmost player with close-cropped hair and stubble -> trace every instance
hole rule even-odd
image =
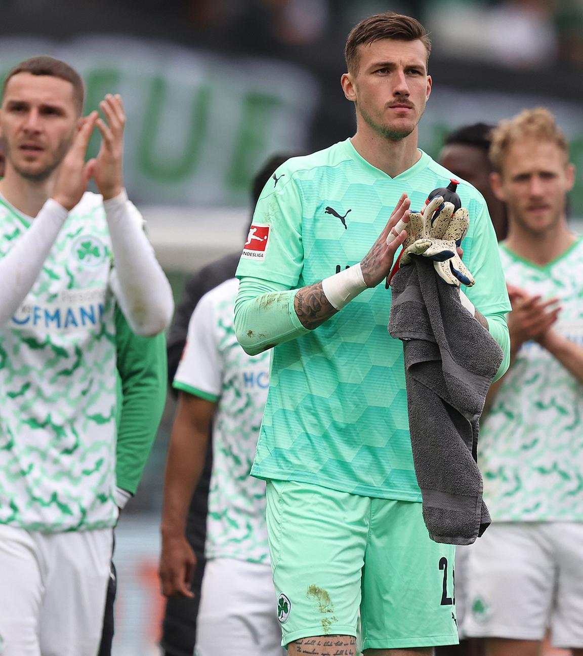
[[[28,180],[46,180],[69,150],[77,122],[70,82],[17,73],[7,84],[0,111],[7,167]]]

